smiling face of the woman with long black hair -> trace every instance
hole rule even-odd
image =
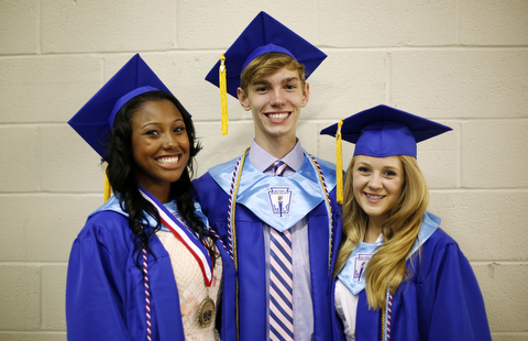
[[[189,160],[189,138],[182,113],[169,100],[147,101],[130,120],[138,184],[162,202],[169,200]]]

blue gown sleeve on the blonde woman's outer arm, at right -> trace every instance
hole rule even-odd
[[[427,299],[418,300],[425,312],[418,319],[429,324],[424,329],[429,331],[427,340],[492,340],[484,299],[468,258],[454,242],[442,249],[432,257],[431,272],[422,283]]]

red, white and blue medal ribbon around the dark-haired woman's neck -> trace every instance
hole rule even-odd
[[[212,261],[209,256],[209,252],[204,244],[193,233],[183,226],[164,206],[160,200],[154,198],[150,193],[138,186],[141,195],[148,200],[160,213],[160,219],[164,227],[166,227],[174,237],[179,240],[193,254],[198,262],[201,273],[204,274],[204,280],[206,286],[211,286],[212,283]]]

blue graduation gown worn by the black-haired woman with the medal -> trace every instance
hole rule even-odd
[[[116,200],[112,197],[109,201]],[[68,340],[146,340],[143,273],[134,261],[127,213],[108,202],[92,213],[72,246],[66,283]],[[221,256],[228,260],[220,243]],[[150,239],[148,277],[153,340],[185,340],[170,258]]]

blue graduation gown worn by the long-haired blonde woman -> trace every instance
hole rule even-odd
[[[473,270],[457,242],[437,229],[406,267],[413,276],[393,297],[391,340],[492,340]],[[360,293],[356,341],[382,340],[381,310],[369,310],[365,290]]]

